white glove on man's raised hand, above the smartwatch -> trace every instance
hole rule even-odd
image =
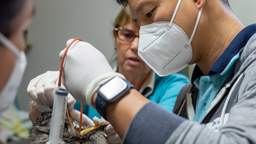
[[[67,45],[72,41],[68,40]],[[66,49],[59,53],[62,59]],[[105,56],[91,44],[75,41],[70,46],[63,67],[62,82],[79,102],[92,108],[92,96],[98,87],[114,76],[124,78],[112,70]]]

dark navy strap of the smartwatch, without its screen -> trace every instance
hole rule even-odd
[[[135,87],[128,80],[125,80],[123,78],[122,78],[122,80],[124,80],[128,84],[128,89],[131,89],[131,88],[135,89]],[[99,87],[99,89],[100,89],[100,87]],[[109,104],[109,103],[110,102],[107,102],[99,94],[97,95],[97,98],[96,98],[96,101],[95,101],[96,110],[105,120],[107,120],[107,118],[106,118],[106,105]]]

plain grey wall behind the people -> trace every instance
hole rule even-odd
[[[256,0],[229,0],[238,19],[248,26],[256,23]],[[36,15],[28,29],[28,65],[18,91],[21,109],[28,111],[30,80],[48,70],[59,69],[58,54],[66,41],[79,37],[98,48],[108,60],[114,53],[112,23],[121,9],[114,0],[35,0]],[[190,71],[189,71],[190,69]],[[188,75],[192,68],[182,73]]]

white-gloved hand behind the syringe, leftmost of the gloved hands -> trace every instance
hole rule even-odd
[[[47,71],[32,79],[27,87],[27,93],[32,99],[32,104],[40,112],[52,111],[55,89],[58,87],[59,71]],[[63,84],[62,89],[66,89]],[[74,105],[76,100],[69,93],[67,105]],[[33,114],[33,113],[30,113]],[[33,116],[30,116],[33,117]]]

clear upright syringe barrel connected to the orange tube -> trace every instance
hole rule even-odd
[[[52,123],[50,128],[49,141],[47,144],[62,143],[68,94],[69,92],[65,89],[57,89],[55,92],[52,110]]]

